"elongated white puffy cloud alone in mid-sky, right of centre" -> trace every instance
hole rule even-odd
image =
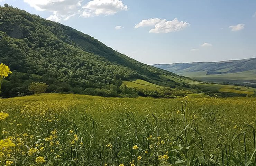
[[[142,20],[139,24],[135,25],[134,28],[154,26],[154,28],[149,30],[149,33],[170,33],[182,30],[188,27],[190,24],[188,22],[179,21],[174,18],[172,21],[167,21],[166,19],[150,18],[147,20]]]

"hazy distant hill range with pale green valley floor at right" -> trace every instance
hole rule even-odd
[[[154,64],[152,66],[205,82],[256,86],[256,57],[220,62]]]

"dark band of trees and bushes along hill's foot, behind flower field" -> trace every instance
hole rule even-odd
[[[185,96],[188,93],[192,93],[189,90],[183,90],[181,88],[164,88],[159,91],[153,90],[139,90],[132,87],[127,87],[126,84],[122,84],[121,79],[112,80],[114,84],[104,84],[102,88],[91,87],[91,85],[84,83],[74,84],[73,82],[60,82],[55,77],[47,74],[43,76],[34,75],[31,73],[20,73],[13,71],[12,74],[3,80],[1,96],[3,98],[10,98],[15,96],[24,96],[34,94],[29,90],[33,83],[45,83],[47,85],[47,93],[74,93],[74,94],[88,94],[98,95],[105,97],[138,97],[138,96],[151,96],[154,98],[174,98],[176,96]],[[40,89],[35,87],[34,89]],[[31,89],[31,88],[30,88]]]

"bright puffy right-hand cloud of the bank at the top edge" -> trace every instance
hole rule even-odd
[[[82,7],[82,17],[108,16],[128,10],[121,0],[92,0]]]

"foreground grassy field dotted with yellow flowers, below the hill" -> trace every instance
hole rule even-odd
[[[255,98],[0,99],[0,165],[254,166],[255,110]]]

